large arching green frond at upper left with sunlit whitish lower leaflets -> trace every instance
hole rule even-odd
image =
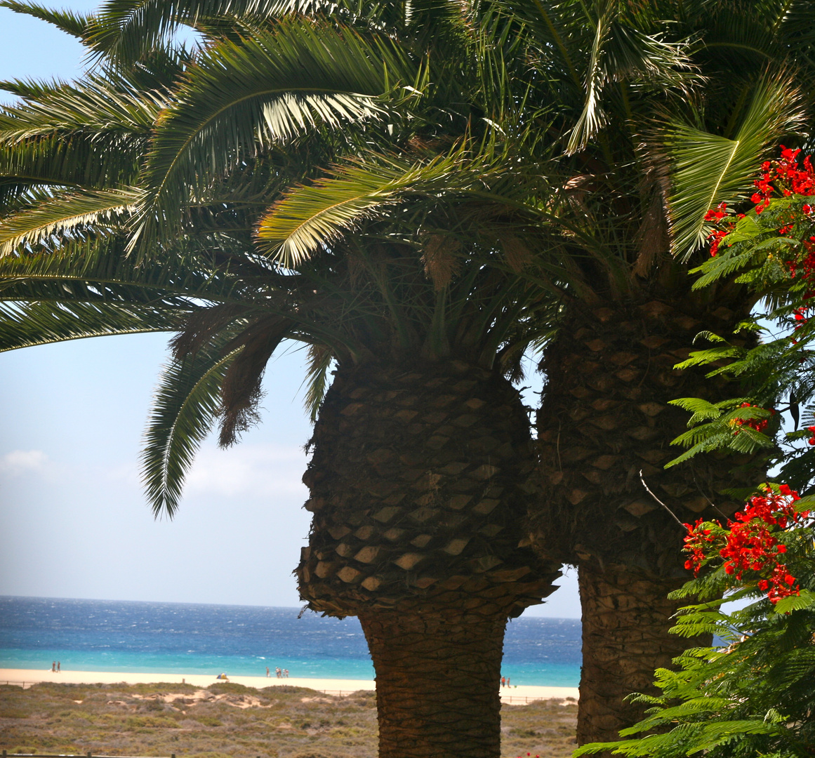
[[[416,67],[384,38],[366,42],[301,21],[222,42],[200,58],[159,121],[134,240],[178,223],[189,192],[203,189],[201,177],[316,124],[335,128],[382,113],[381,97],[414,77]]]

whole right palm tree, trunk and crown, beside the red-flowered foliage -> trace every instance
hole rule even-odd
[[[579,566],[582,744],[636,721],[623,697],[651,691],[654,668],[689,644],[667,634],[667,592],[685,581],[673,514],[733,513],[729,488],[761,475],[748,456],[663,469],[686,421],[667,403],[734,394],[673,366],[703,329],[732,333],[750,296],[733,282],[692,293],[688,270],[707,255],[707,209],[749,197],[762,158],[803,128],[791,71],[811,74],[815,17],[786,2],[505,6],[540,75],[531,99],[562,105],[551,130],[564,188],[604,243],[564,262],[537,421],[545,496],[531,514],[538,552]]]

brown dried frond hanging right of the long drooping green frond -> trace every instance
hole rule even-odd
[[[224,350],[228,353],[243,345],[221,386],[221,434],[218,438],[221,447],[235,444],[241,433],[258,423],[263,372],[290,327],[291,322],[280,316],[262,319],[246,328]]]

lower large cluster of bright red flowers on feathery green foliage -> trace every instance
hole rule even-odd
[[[764,495],[751,497],[745,509],[735,514],[735,520],[728,521],[726,529],[715,522],[708,525],[701,518],[694,526],[685,524],[688,534],[684,549],[690,553],[685,568],[698,575],[703,562],[716,551],[725,559],[725,573],[736,580],[741,581],[745,571],[759,574],[757,586],[773,605],[782,597],[800,594],[800,586],[781,559],[786,546],[773,534],[808,520],[808,510],[795,509],[797,500],[798,493],[786,484],[778,491],[765,487]]]

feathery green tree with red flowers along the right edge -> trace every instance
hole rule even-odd
[[[732,518],[719,513],[685,524],[685,566],[694,579],[673,593],[685,604],[673,631],[685,640],[713,634],[720,644],[687,650],[672,669],[659,669],[659,695],[637,695],[647,716],[621,730],[623,739],[575,755],[813,755],[815,169],[800,152],[782,145],[762,163],[752,208],[711,209],[711,257],[694,271],[695,289],[738,272],[762,297],[740,331],[763,339],[744,344],[708,333],[711,346],[691,353],[686,364],[706,367],[709,377],[741,377],[744,392],[719,403],[677,399],[693,415],[678,440],[688,449],[672,463],[702,452],[764,451],[775,480]],[[786,425],[782,414],[789,414]],[[747,605],[727,612],[728,600]]]

